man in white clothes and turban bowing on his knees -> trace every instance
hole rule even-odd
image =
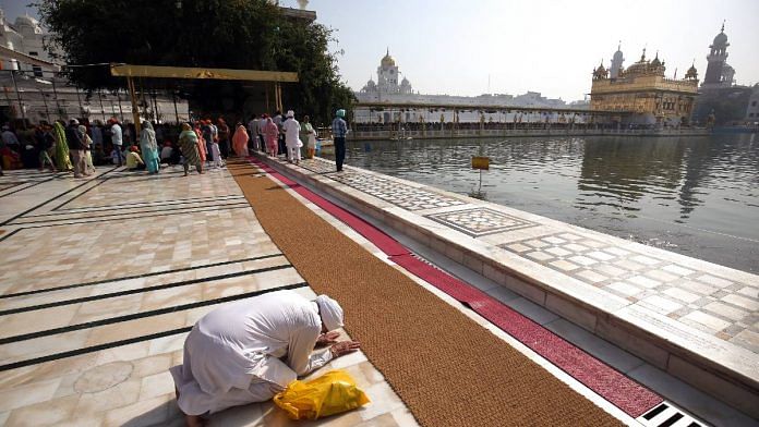
[[[320,295],[309,301],[278,291],[238,301],[201,318],[184,341],[184,362],[172,367],[177,402],[188,426],[201,415],[264,402],[288,383],[359,349],[337,342],[342,308]],[[329,345],[315,351],[317,344]]]

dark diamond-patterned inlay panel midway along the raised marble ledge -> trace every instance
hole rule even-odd
[[[426,218],[472,237],[537,227],[538,224],[489,208],[472,208],[426,215]]]

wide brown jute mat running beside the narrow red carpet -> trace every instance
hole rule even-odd
[[[420,424],[622,424],[257,175],[257,168],[228,167],[262,227],[316,293],[340,303],[346,330]]]

